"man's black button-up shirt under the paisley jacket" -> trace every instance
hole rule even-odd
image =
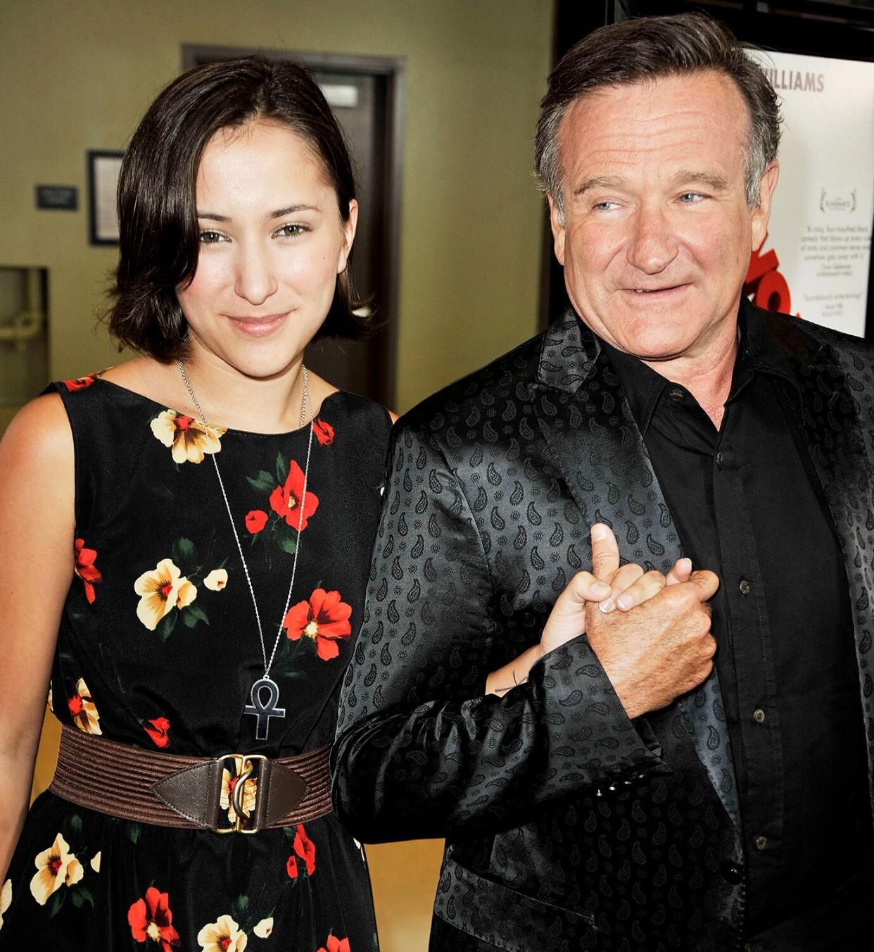
[[[746,932],[766,938],[859,873],[870,813],[846,569],[795,420],[799,384],[761,318],[744,326],[742,310],[741,321],[719,430],[685,387],[605,347],[684,551],[720,578],[715,666],[743,819]]]

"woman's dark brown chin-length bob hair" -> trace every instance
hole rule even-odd
[[[220,129],[268,120],[301,136],[319,156],[349,220],[355,178],[337,120],[310,74],[259,56],[189,69],[158,96],[128,145],[118,184],[120,257],[109,331],[121,347],[162,362],[185,353],[187,324],[176,298],[197,268],[195,188],[201,156]],[[352,300],[349,268],[337,276],[317,337],[364,336],[369,309]],[[359,309],[359,313],[356,310]]]

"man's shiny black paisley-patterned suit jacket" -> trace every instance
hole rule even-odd
[[[743,307],[748,306],[745,302]],[[803,390],[800,426],[842,540],[871,720],[872,348],[760,312]],[[363,841],[445,837],[431,948],[739,948],[741,826],[715,672],[630,721],[585,636],[504,697],[589,527],[623,559],[682,555],[607,354],[573,312],[395,427],[334,803]]]

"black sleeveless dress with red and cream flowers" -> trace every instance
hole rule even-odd
[[[76,574],[52,668],[55,716],[188,756],[287,757],[330,744],[379,516],[385,410],[343,392],[324,401],[299,534],[308,427],[207,427],[96,376],[52,389],[76,457]],[[265,741],[243,713],[262,648],[210,454],[268,654],[282,624],[271,677],[286,715],[270,720]],[[222,795],[229,823],[233,783]],[[333,814],[223,836],[120,820],[47,792],[0,892],[3,950],[377,947],[363,851]]]

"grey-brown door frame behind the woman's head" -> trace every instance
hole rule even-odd
[[[349,53],[304,52],[302,50],[262,50],[251,47],[225,47],[216,44],[184,43],[182,68],[191,69],[204,60],[232,59],[258,54],[268,59],[294,60],[314,72],[335,70],[366,76],[378,76],[386,89],[386,142],[382,159],[385,165],[384,234],[379,249],[384,261],[382,317],[387,326],[383,361],[379,369],[384,380],[383,397],[388,407],[395,406],[398,382],[398,305],[400,297],[400,197],[403,173],[402,133],[406,100],[406,61],[401,56],[363,56]]]

